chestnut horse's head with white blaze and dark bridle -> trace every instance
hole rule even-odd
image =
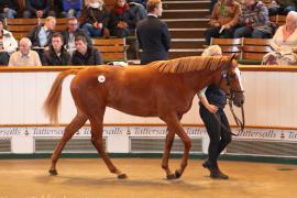
[[[219,86],[237,107],[241,107],[244,103],[244,90],[241,81],[241,73],[234,57],[235,55],[232,55],[228,64],[221,70]]]

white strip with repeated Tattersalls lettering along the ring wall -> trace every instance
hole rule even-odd
[[[64,133],[65,127],[4,127],[0,128],[0,138],[12,136],[48,136],[59,138]],[[202,127],[185,127],[187,134],[191,138],[207,136],[206,129]],[[128,136],[166,136],[166,127],[105,127],[103,136],[128,135]],[[256,129],[246,128],[242,132],[238,129],[232,129],[238,133],[237,139],[248,140],[272,140],[272,141],[294,141],[297,142],[297,130],[280,130],[280,129]],[[90,127],[81,128],[74,136],[91,136]]]

